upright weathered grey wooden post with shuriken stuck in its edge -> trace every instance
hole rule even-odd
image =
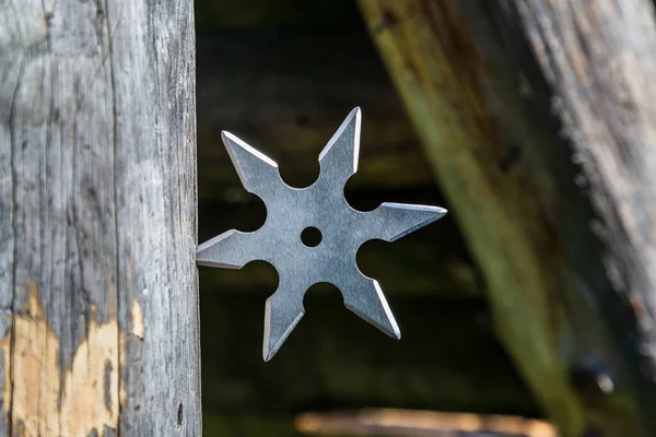
[[[200,436],[190,1],[0,5],[2,429]]]

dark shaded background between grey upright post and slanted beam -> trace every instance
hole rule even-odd
[[[421,143],[347,0],[196,2],[199,241],[263,223],[220,141],[225,129],[308,186],[317,156],[354,106],[363,110],[359,173],[347,199],[449,205]],[[277,273],[200,269],[204,435],[293,436],[305,411],[391,406],[539,415],[492,331],[476,265],[452,216],[394,244],[367,243],[402,331],[391,340],[348,311],[337,288],[313,287],[278,355],[261,358],[263,304]]]

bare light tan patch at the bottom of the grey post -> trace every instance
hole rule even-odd
[[[96,322],[92,306],[89,336],[78,346],[70,369],[59,367],[59,339],[46,321],[36,284],[28,284],[27,314],[14,320],[11,335],[1,342],[4,368],[13,371],[13,393],[5,383],[5,405],[11,398],[14,429],[22,436],[87,436],[105,426],[118,428],[118,323]],[[13,362],[12,362],[13,358]],[[4,376],[5,382],[8,375]],[[61,403],[59,393],[61,389]],[[59,406],[61,405],[61,406]]]

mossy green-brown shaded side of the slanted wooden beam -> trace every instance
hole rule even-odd
[[[481,268],[496,332],[537,400],[565,436],[578,437],[589,426],[612,429],[612,436],[642,435],[640,423],[616,421],[622,414],[612,402],[599,414],[599,405],[570,383],[569,369],[579,361],[594,356],[623,373],[626,357],[582,293],[590,284],[582,284],[587,272],[577,276],[574,265],[581,264],[569,259],[570,241],[559,239],[554,221],[563,217],[553,212],[567,210],[563,202],[577,189],[573,177],[558,181],[567,176],[571,156],[555,151],[557,128],[523,99],[515,55],[505,51],[495,27],[501,7],[360,3]],[[549,152],[560,165],[546,158]],[[566,220],[578,221],[579,235],[586,234],[591,215],[587,223],[574,215]]]

